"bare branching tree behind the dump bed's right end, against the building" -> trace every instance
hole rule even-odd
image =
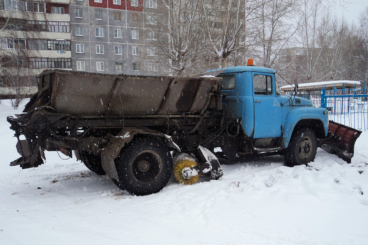
[[[183,76],[193,72],[201,48],[201,0],[161,0],[161,16],[146,12],[149,32],[156,33],[152,45],[171,75]],[[158,26],[162,28],[158,31]]]

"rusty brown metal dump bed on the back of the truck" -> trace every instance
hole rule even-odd
[[[49,105],[71,115],[197,114],[217,90],[215,77],[109,75],[46,70],[25,111]]]

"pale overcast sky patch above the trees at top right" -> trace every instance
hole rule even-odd
[[[367,0],[346,0],[348,3],[345,5],[346,8],[336,6],[336,14],[339,16],[344,15],[347,21],[354,21],[355,24],[359,23],[359,15],[368,6]],[[339,2],[339,1],[337,1]]]

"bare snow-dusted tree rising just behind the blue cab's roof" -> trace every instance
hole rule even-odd
[[[254,21],[256,10],[262,5],[253,0],[202,0],[207,50],[219,68],[226,66],[230,55],[246,54],[256,42]]]

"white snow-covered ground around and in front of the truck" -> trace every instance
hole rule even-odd
[[[56,152],[10,167],[19,155],[6,116],[22,109],[0,104],[0,244],[368,244],[368,132],[351,164],[322,149],[308,166],[271,156],[136,197]]]

